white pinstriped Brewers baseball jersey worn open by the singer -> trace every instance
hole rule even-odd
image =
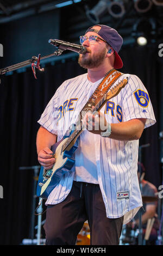
[[[123,74],[118,82],[129,77],[121,92],[107,101],[101,109],[109,123],[121,123],[135,118],[146,118],[145,128],[155,123],[155,117],[148,92],[141,80],[130,74]],[[98,83],[87,80],[87,74],[65,81],[49,101],[42,113],[40,125],[58,135],[58,141],[76,121],[79,112],[91,96]],[[117,82],[116,82],[117,83]],[[85,132],[85,133],[84,133]],[[84,131],[83,138],[87,136]],[[142,206],[139,181],[137,179],[137,160],[139,140],[117,141],[90,133],[95,145],[89,140],[90,150],[94,149],[98,184],[101,188],[106,216],[118,218],[124,215],[124,224],[129,222]],[[78,151],[79,150],[79,151]],[[75,160],[81,149],[77,149]],[[86,155],[88,161],[89,155]],[[72,172],[62,176],[60,183],[49,194],[46,204],[57,204],[64,200],[71,190],[76,165]],[[89,170],[88,170],[89,171]],[[82,175],[82,174],[81,174]],[[81,177],[82,179],[82,177]],[[90,182],[90,181],[89,181]]]

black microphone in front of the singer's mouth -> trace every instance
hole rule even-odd
[[[71,44],[71,42],[65,42],[65,41],[56,40],[56,39],[49,39],[48,42],[49,44],[57,46],[61,50],[70,50],[70,51],[78,52],[81,54],[87,52],[86,48],[84,48],[83,45]]]

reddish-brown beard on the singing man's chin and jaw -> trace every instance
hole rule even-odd
[[[87,53],[79,55],[79,58],[78,58],[79,65],[85,69],[98,68],[98,66],[102,64],[105,58],[106,49],[103,49],[100,52],[95,53],[93,56],[91,56],[91,53],[89,55],[87,54],[87,56],[86,54]]]

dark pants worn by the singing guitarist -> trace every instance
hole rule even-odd
[[[106,217],[99,185],[74,181],[63,202],[47,206],[46,245],[75,245],[86,220],[91,245],[118,245],[123,217]]]

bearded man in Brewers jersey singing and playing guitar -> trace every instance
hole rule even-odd
[[[57,161],[52,157],[52,145],[77,120],[103,78],[111,80],[123,66],[118,55],[123,40],[115,29],[92,26],[80,36],[80,43],[87,52],[79,55],[78,62],[87,73],[62,83],[38,121],[38,160],[45,169]],[[78,139],[74,166],[47,198],[47,245],[76,244],[86,220],[91,245],[118,245],[122,224],[142,206],[137,178],[139,139],[143,129],[155,123],[155,117],[139,77],[119,74],[114,84],[126,78],[128,83],[98,114],[84,115],[86,129]]]

